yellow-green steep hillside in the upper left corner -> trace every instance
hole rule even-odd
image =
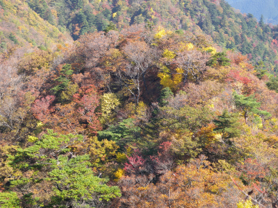
[[[44,21],[25,1],[0,1],[0,50],[13,46],[39,46],[46,49],[71,37]]]

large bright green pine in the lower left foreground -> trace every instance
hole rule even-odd
[[[33,145],[8,155],[18,176],[10,180],[7,192],[0,193],[0,205],[9,205],[5,200],[12,197],[14,207],[100,207],[121,196],[118,187],[106,184],[108,179],[95,176],[90,155],[71,152],[71,146],[82,140],[81,135],[48,130],[41,139],[33,139]],[[35,197],[42,188],[47,194]],[[21,195],[16,197],[13,191]]]

